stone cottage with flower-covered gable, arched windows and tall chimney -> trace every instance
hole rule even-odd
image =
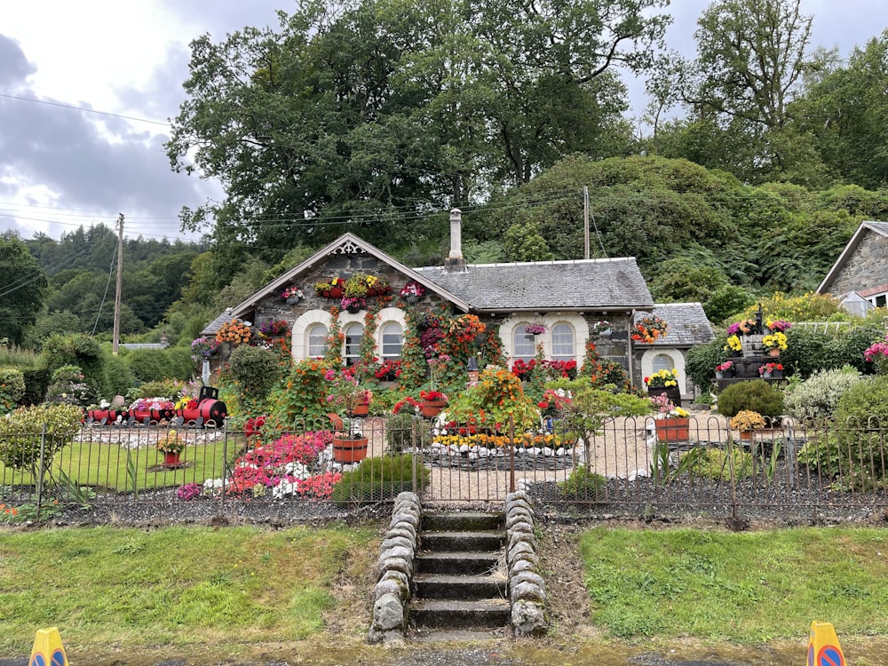
[[[328,297],[316,293],[317,282],[332,277],[353,274],[372,274],[383,278],[399,290],[414,282],[424,290],[416,305],[404,299],[393,298],[378,309],[372,335],[380,361],[396,360],[404,344],[408,307],[437,309],[450,308],[455,313],[471,313],[488,328],[499,334],[503,353],[510,361],[534,358],[537,345],[543,345],[546,358],[581,363],[586,343],[597,345],[602,358],[620,362],[630,373],[636,385],[641,384],[642,369],[650,363],[643,349],[630,339],[632,322],[639,312],[650,312],[654,301],[646,282],[638,270],[635,258],[576,259],[568,261],[526,262],[512,264],[466,265],[461,234],[462,216],[459,210],[450,214],[450,253],[445,266],[411,268],[404,266],[369,242],[355,234],[344,234],[312,257],[290,269],[262,289],[222,313],[204,330],[213,335],[226,321],[233,319],[260,323],[285,319],[291,328],[292,353],[297,360],[323,355],[331,327],[331,303]],[[285,289],[297,287],[303,297],[290,305],[281,297]],[[670,307],[670,306],[663,306]],[[685,313],[669,310],[669,313]],[[702,313],[702,309],[700,310]],[[357,360],[364,335],[366,312],[337,313],[337,323],[344,336],[343,358],[346,363]],[[685,316],[684,314],[682,316]],[[700,324],[696,311],[687,315],[694,327]],[[702,317],[705,321],[705,316]],[[606,336],[599,333],[599,321],[609,322]],[[544,332],[533,336],[525,330],[527,324],[543,324]],[[676,326],[670,332],[679,347],[695,344],[702,333],[680,333]],[[702,330],[702,329],[701,329]],[[697,331],[697,328],[694,328]],[[706,338],[708,341],[710,338]],[[635,351],[641,347],[638,353]],[[665,345],[658,345],[663,353]],[[684,368],[683,356],[676,353],[674,362]],[[669,358],[673,358],[672,355]]]

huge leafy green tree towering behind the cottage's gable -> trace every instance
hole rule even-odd
[[[277,32],[204,36],[168,155],[220,178],[226,199],[184,223],[215,219],[229,277],[247,255],[274,264],[345,228],[388,250],[443,238],[446,218],[416,218],[628,136],[611,72],[646,67],[665,4],[308,2]]]

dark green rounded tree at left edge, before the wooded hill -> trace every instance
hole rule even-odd
[[[49,281],[25,243],[0,236],[0,338],[20,345],[44,305]]]

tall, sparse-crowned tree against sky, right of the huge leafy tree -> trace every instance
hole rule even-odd
[[[678,100],[688,111],[686,121],[670,128],[679,137],[690,132],[678,144],[672,141],[673,151],[682,143],[686,150],[665,155],[696,159],[688,149],[710,145],[715,158],[704,150],[700,163],[744,180],[822,178],[810,137],[788,127],[789,102],[812,65],[807,53],[812,18],[800,12],[800,4],[718,0],[704,10],[694,33],[697,58],[662,64],[649,83],[659,104]],[[659,150],[661,138],[655,145]]]

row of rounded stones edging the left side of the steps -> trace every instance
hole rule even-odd
[[[415,493],[395,498],[392,520],[379,546],[379,578],[374,590],[369,643],[402,640],[407,630],[413,559],[419,549],[423,504]]]

